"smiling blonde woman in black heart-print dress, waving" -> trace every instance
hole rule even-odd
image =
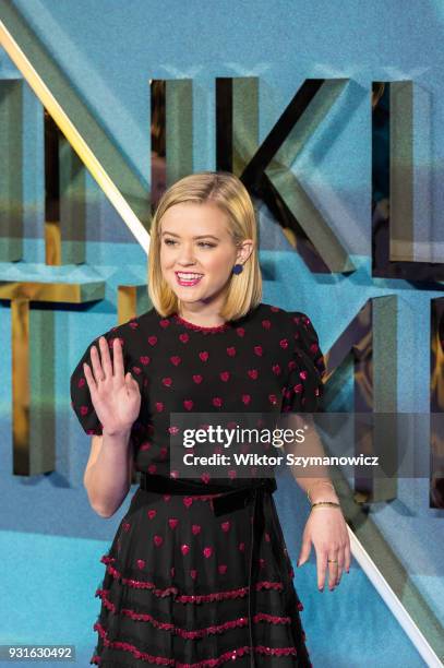
[[[110,517],[132,498],[109,552],[92,664],[206,668],[311,666],[272,492],[273,477],[171,466],[173,414],[314,411],[325,370],[304,313],[261,302],[251,199],[228,172],[175,183],[151,228],[154,308],[91,345],[71,378],[72,406],[93,445],[92,506]],[[175,441],[176,439],[176,441]],[[179,441],[180,443],[180,441]],[[215,449],[216,452],[217,448]],[[220,450],[220,449],[219,449]],[[313,542],[319,586],[348,571],[347,527],[327,479],[311,492],[301,560]]]

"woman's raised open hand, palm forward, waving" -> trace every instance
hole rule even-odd
[[[119,338],[112,342],[113,370],[108,342],[99,338],[100,355],[91,348],[91,362],[83,365],[91,399],[104,432],[116,436],[130,431],[141,409],[141,393],[130,372],[124,375],[122,347]]]

